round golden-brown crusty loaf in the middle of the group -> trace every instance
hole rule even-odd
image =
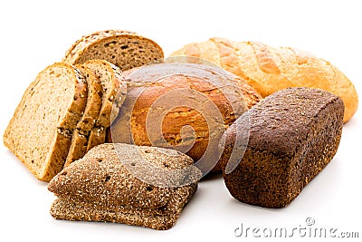
[[[215,70],[201,64],[168,63],[125,72],[128,94],[108,141],[177,149],[194,161],[207,149],[217,150],[209,144],[211,137],[224,132],[262,96],[242,79]]]

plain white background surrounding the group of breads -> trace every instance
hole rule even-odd
[[[361,96],[361,24],[360,1],[348,0],[1,1],[1,137],[36,74],[60,61],[84,34],[105,29],[138,32],[155,40],[166,56],[213,36],[297,47],[338,66]],[[245,205],[233,199],[216,176],[200,183],[176,226],[167,231],[53,219],[49,208],[54,197],[47,184],[34,179],[0,145],[0,241],[242,241],[245,235],[234,237],[233,232],[242,223],[291,229],[306,227],[306,218],[315,219],[314,227],[357,231],[360,239],[361,121],[359,109],[344,127],[335,158],[289,207]],[[252,238],[250,232],[247,238]]]

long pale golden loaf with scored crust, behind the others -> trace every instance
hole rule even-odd
[[[242,77],[262,96],[288,87],[319,88],[338,95],[345,104],[344,122],[357,111],[358,96],[352,82],[337,67],[294,48],[272,48],[254,42],[211,38],[186,44],[171,56],[195,56]],[[170,59],[174,60],[174,59]]]

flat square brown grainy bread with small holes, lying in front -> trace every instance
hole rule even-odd
[[[101,144],[51,180],[48,189],[58,197],[52,204],[52,217],[170,228],[192,198],[202,175],[198,169],[185,169],[193,163],[176,150]],[[160,172],[144,172],[149,164]],[[179,170],[184,172],[174,176],[173,171]],[[156,183],[171,182],[174,187],[142,181],[147,177]]]

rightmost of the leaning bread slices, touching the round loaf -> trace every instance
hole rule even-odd
[[[100,80],[103,96],[99,118],[95,121],[94,127],[90,130],[87,150],[104,143],[106,130],[110,127],[118,113],[119,107],[126,98],[127,84],[119,68],[105,60],[90,60],[84,63]]]

